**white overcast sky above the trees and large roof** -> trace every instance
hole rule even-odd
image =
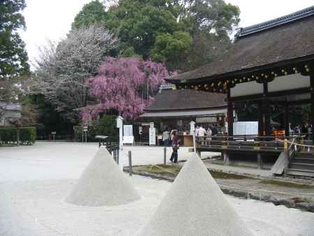
[[[38,55],[38,45],[45,45],[48,39],[60,40],[70,30],[75,15],[91,0],[26,0],[24,17],[27,30],[22,38],[27,45],[29,59]],[[302,8],[314,5],[314,0],[225,0],[239,6],[241,22],[239,27],[248,27],[271,20]]]

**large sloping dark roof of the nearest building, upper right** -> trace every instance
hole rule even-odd
[[[256,27],[254,34],[251,32],[239,37],[223,59],[172,76],[167,81],[188,82],[203,78],[210,81],[278,64],[285,66],[296,59],[314,59],[314,15],[296,18],[271,28],[264,27]]]

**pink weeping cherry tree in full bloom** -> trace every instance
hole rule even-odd
[[[89,94],[96,99],[87,105],[82,119],[90,121],[108,110],[125,119],[135,119],[152,101],[164,78],[172,75],[163,64],[135,57],[105,57],[98,74],[87,79]]]

